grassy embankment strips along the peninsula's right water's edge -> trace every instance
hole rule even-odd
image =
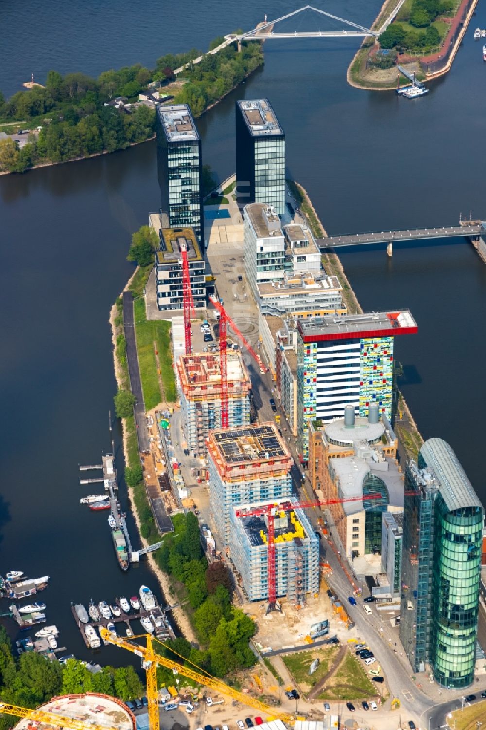
[[[317,238],[327,237],[325,228],[321,223],[317,212],[315,211],[315,207],[312,205],[312,201],[309,198],[306,189],[299,183],[293,183],[293,185],[291,185],[291,189],[293,190],[293,192],[297,189],[301,195],[301,210],[306,215],[307,222],[309,223],[309,227],[311,228],[312,233]],[[346,273],[344,272],[344,267],[341,263],[341,260],[339,259],[339,256],[336,253],[330,252],[323,253],[322,258],[325,271],[328,274],[333,274],[334,276],[338,277],[339,281],[342,284],[343,299],[347,306],[348,312],[352,314],[362,314],[363,310],[361,309],[358,298],[352,289],[350,280],[347,278]],[[404,452],[406,452],[407,457],[417,460],[418,452],[420,451],[420,447],[423,444],[423,437],[417,428],[417,424],[412,418],[412,413],[410,412],[409,407],[406,404],[406,400],[404,399],[404,396],[398,386],[396,386],[396,393],[398,395],[396,405],[397,413],[394,424],[396,435],[398,439],[400,439],[401,445],[404,449]]]

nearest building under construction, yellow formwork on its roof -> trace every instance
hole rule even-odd
[[[319,541],[304,510],[295,509],[291,500],[281,507],[273,518],[275,596],[302,607],[307,593],[319,591]],[[238,511],[230,512],[231,560],[248,599],[262,601],[269,598],[269,516],[239,517]]]

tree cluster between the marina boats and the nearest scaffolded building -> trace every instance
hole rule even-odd
[[[199,649],[182,643],[187,651],[179,653],[217,677],[252,666],[255,656],[249,641],[255,634],[255,623],[231,604],[228,569],[219,562],[208,566],[193,512],[175,515],[173,521],[174,534],[166,537],[155,559],[165,572],[185,585],[193,610],[191,620],[201,643]]]

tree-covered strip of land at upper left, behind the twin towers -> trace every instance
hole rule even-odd
[[[209,50],[222,40],[215,39]],[[31,85],[10,99],[0,91],[0,172],[24,172],[145,142],[155,134],[155,109],[139,101],[141,93],[157,91],[162,104],[190,104],[198,117],[263,64],[261,44],[255,42],[242,43],[240,52],[235,42],[193,64],[200,55],[196,49],[164,55],[153,70],[135,64],[97,79],[50,71],[45,85]],[[176,77],[174,69],[185,64]],[[119,98],[123,102],[116,106]],[[19,131],[21,145],[10,136]]]

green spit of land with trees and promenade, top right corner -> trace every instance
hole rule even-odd
[[[396,18],[378,39],[366,37],[347,72],[356,88],[387,91],[409,79],[397,64],[419,81],[449,71],[466,31],[476,0],[405,0]],[[371,28],[381,28],[396,8],[387,0]]]

